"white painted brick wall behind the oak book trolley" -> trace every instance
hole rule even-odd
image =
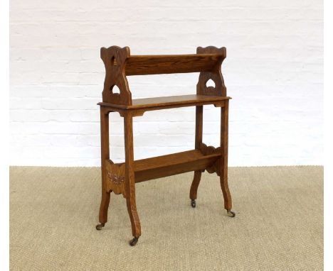
[[[10,4],[11,165],[100,165],[100,47],[132,54],[226,46],[229,165],[322,164],[323,6],[317,0],[68,1]],[[134,98],[194,94],[198,74],[129,77]],[[194,108],[135,118],[136,159],[194,148]],[[203,140],[218,145],[218,109]],[[111,157],[124,160],[122,118]]]

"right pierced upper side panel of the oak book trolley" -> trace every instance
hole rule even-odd
[[[206,48],[196,48],[197,54],[218,54],[221,55],[219,62],[211,72],[200,72],[199,82],[196,84],[196,94],[208,96],[226,96],[226,86],[224,85],[223,76],[221,73],[221,65],[226,58],[226,48],[216,48],[208,46]],[[215,87],[207,87],[206,83],[213,80]]]

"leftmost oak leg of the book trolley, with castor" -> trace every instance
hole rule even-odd
[[[100,224],[96,226],[99,231],[107,223],[107,210],[110,203],[110,191],[107,191],[105,176],[105,160],[110,158],[109,148],[109,112],[100,107],[100,138],[101,138],[101,170],[102,170],[102,200],[100,202]]]

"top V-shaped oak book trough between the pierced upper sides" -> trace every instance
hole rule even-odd
[[[131,55],[126,60],[126,75],[209,72],[218,69],[224,55]]]

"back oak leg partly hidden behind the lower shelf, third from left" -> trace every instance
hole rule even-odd
[[[203,122],[203,106],[196,106],[196,149],[200,150],[202,143],[202,122]],[[199,183],[201,180],[201,171],[194,172],[194,178],[190,189],[191,206],[196,206],[196,194],[198,192]]]

